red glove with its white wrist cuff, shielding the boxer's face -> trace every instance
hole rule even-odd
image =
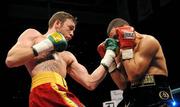
[[[131,26],[122,26],[116,28],[119,47],[122,51],[122,59],[131,59],[134,57],[133,48],[135,46],[134,28]]]

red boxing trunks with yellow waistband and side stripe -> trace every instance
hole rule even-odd
[[[85,107],[68,91],[67,83],[56,72],[38,73],[32,78],[29,107]]]

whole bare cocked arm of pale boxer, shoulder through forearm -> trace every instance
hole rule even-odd
[[[33,39],[40,35],[34,29],[27,29],[18,38],[16,44],[9,50],[6,58],[8,67],[18,67],[24,65],[34,57],[31,46],[34,44]]]

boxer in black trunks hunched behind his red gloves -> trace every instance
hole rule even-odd
[[[166,59],[159,41],[140,34],[121,18],[113,19],[107,34],[116,38],[120,51],[109,73],[124,90],[119,107],[168,107],[172,94],[168,84]],[[102,51],[103,43],[98,46]],[[102,52],[100,53],[101,56]]]

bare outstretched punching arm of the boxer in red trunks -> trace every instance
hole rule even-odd
[[[107,74],[105,68],[99,65],[91,74],[88,73],[87,69],[78,63],[74,56],[73,61],[69,67],[68,73],[78,83],[83,85],[88,90],[94,90],[97,85],[104,79]]]

